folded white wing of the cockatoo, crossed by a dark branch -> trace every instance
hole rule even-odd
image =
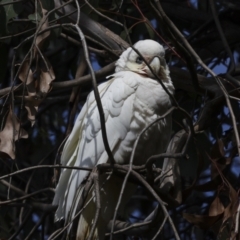
[[[116,147],[126,138],[132,117],[134,93],[138,86],[136,74],[123,78],[115,74],[111,80],[99,86],[99,93],[104,109],[105,124],[110,148],[113,154]],[[123,162],[124,156],[117,154],[117,162]],[[74,128],[64,146],[61,158],[62,165],[93,168],[106,163],[106,154],[102,141],[99,112],[93,93],[91,93],[79,114]],[[62,171],[53,204],[58,204],[56,218],[67,218],[75,193],[87,171]],[[65,215],[65,216],[64,216]]]

